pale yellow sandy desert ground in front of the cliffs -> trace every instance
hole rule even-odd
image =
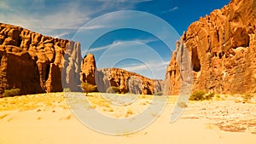
[[[121,97],[122,98],[122,97]],[[169,96],[164,111],[147,128],[124,135],[104,135],[80,123],[69,109],[83,103],[79,96],[67,105],[62,93],[22,95],[0,99],[0,144],[9,143],[154,143],[154,144],[254,144],[256,104],[240,97],[225,96],[213,101],[190,101],[183,115],[169,123],[177,96]],[[255,98],[255,96],[254,96]],[[224,100],[222,100],[224,99]],[[87,109],[112,118],[130,118],[152,103],[141,95],[131,103],[109,104],[99,94],[90,94]],[[76,106],[76,105],[75,105]]]

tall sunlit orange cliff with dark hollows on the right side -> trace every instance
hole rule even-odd
[[[192,90],[246,93],[256,89],[256,5],[253,0],[233,0],[223,9],[200,18],[178,42],[188,51],[193,68]],[[177,46],[178,48],[178,46]],[[177,54],[178,53],[178,54]],[[181,78],[177,55],[166,70],[169,95],[177,95]]]

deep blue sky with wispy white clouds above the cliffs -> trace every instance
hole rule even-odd
[[[97,66],[100,68],[115,66],[149,78],[164,78],[178,37],[192,22],[228,3],[229,0],[1,0],[0,22],[51,37],[79,41],[82,56],[90,51],[99,61]],[[107,32],[90,46],[86,45],[91,37],[104,32],[106,27],[136,23],[125,20],[125,14],[108,14],[120,10],[138,10],[165,20],[173,28],[171,37],[164,25],[154,20],[150,23],[158,28],[160,37],[166,41],[170,38],[170,44],[163,43],[160,37],[150,32],[123,28]],[[86,25],[104,14],[93,25]],[[85,49],[87,47],[89,49]]]

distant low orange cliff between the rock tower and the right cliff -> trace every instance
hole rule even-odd
[[[119,68],[103,68],[96,72],[96,84],[99,91],[105,92],[108,87],[118,87],[121,93],[154,95],[162,91],[163,82],[143,77],[135,72]]]

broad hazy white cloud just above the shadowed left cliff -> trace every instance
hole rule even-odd
[[[6,7],[9,7],[8,4],[9,3],[5,3],[5,5],[7,5]],[[2,5],[0,5],[0,7],[1,9],[3,8]],[[38,5],[38,7],[41,6]],[[4,23],[22,26],[31,29],[32,31],[48,35],[56,29],[78,29],[79,26],[84,25],[85,21],[90,20],[90,14],[89,9],[80,11],[79,5],[66,3],[55,8],[53,13],[46,12],[45,14],[38,14],[36,12],[27,13],[26,11],[15,11],[7,14],[0,14],[0,19]]]

